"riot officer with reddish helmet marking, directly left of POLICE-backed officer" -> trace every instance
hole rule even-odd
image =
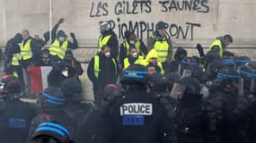
[[[107,113],[116,97],[123,96],[123,89],[109,84],[104,88],[101,105],[94,105],[77,124],[77,142],[108,143],[112,135],[111,122]]]

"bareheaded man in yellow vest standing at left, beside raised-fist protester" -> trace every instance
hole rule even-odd
[[[39,60],[40,57],[40,47],[36,40],[31,38],[30,32],[27,29],[22,31],[22,42],[19,43],[22,56],[22,67],[26,68],[30,64]]]

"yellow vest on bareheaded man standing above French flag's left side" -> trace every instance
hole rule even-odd
[[[31,39],[28,39],[25,45],[22,41],[22,43],[19,43],[19,46],[21,48],[22,59],[23,60],[31,59],[33,55],[31,51]]]

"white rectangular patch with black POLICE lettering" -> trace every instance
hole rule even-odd
[[[146,103],[124,104],[120,106],[120,115],[123,114],[151,115],[153,114],[153,105]]]

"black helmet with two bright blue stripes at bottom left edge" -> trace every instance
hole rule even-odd
[[[71,133],[58,122],[42,122],[36,128],[31,143],[74,143]]]

